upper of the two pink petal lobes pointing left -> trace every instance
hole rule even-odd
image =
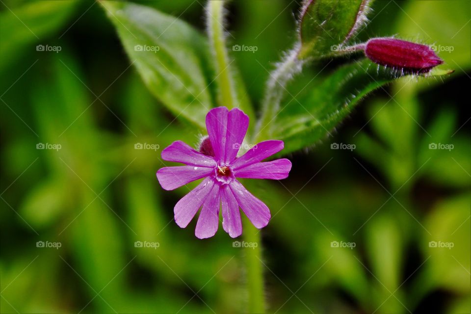
[[[162,159],[181,162],[189,166],[215,167],[216,161],[194,150],[182,141],[175,141],[162,151]]]

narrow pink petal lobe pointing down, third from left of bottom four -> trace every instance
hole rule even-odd
[[[221,186],[219,193],[221,194],[222,228],[231,237],[237,237],[242,234],[239,205],[229,184]]]

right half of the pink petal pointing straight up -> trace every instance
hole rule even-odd
[[[227,134],[226,134],[226,157],[227,164],[234,161],[239,151],[240,145],[247,133],[249,127],[249,116],[242,110],[234,108],[229,111],[227,119]]]

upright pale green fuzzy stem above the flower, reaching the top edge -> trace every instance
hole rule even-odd
[[[236,105],[236,96],[224,38],[224,1],[208,1],[207,10],[209,43],[214,55],[216,82],[219,87],[218,101],[220,105],[233,108]]]

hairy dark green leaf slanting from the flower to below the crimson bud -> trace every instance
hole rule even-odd
[[[299,98],[288,97],[270,123],[268,136],[285,141],[284,154],[313,145],[330,134],[363,97],[396,78],[391,69],[367,59],[342,66],[305,88]]]

